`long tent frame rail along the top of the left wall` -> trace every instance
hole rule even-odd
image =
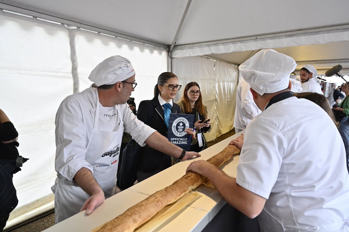
[[[127,40],[131,40],[131,41],[135,41],[135,42],[140,42],[142,44],[151,45],[154,47],[168,49],[168,46],[165,44],[159,44],[158,42],[150,41],[150,40],[147,40],[145,38],[134,37],[132,35],[128,35],[127,33],[115,32],[112,29],[104,28],[104,27],[101,27],[99,25],[89,25],[86,22],[78,22],[78,21],[68,20],[68,19],[65,19],[63,16],[58,16],[58,15],[55,16],[52,13],[40,13],[40,12],[37,12],[34,10],[28,10],[28,9],[24,9],[21,7],[17,7],[15,5],[9,4],[7,2],[5,4],[3,2],[4,1],[0,1],[0,9],[3,9],[3,10],[14,11],[16,13],[30,15],[30,16],[37,17],[37,18],[44,18],[46,20],[51,20],[51,21],[62,23],[62,24],[76,26],[77,28],[84,28],[84,29],[88,29],[91,31],[97,31],[100,33],[110,34],[112,36],[119,37],[121,39],[127,39]]]

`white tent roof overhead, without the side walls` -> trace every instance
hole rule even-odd
[[[7,0],[0,8],[160,47],[176,43],[172,57],[240,64],[258,49],[274,48],[294,57],[297,69],[312,63],[324,73],[341,64],[349,73],[349,5],[342,0]]]

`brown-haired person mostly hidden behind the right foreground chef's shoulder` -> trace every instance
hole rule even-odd
[[[322,109],[324,109],[326,111],[326,113],[328,114],[328,116],[332,119],[332,121],[334,122],[334,124],[337,126],[338,128],[338,123],[336,122],[334,115],[333,115],[333,111],[329,106],[329,102],[327,100],[327,98],[322,95],[322,94],[318,94],[318,93],[295,93],[295,96],[297,98],[304,98],[307,99],[309,101],[314,102],[315,104],[317,104],[318,106],[320,106]],[[348,121],[348,117],[346,121]],[[343,143],[344,143],[344,148],[346,149],[346,163],[347,163],[347,169],[348,169],[348,173],[349,173],[349,144],[348,144],[348,140],[347,140],[347,136],[346,133],[343,132],[343,130],[341,129],[341,127],[338,128],[339,133],[341,134]]]

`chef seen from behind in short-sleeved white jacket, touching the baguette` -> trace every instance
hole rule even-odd
[[[208,177],[264,232],[349,231],[349,176],[341,136],[327,113],[290,92],[296,62],[272,49],[239,66],[263,112],[247,125],[237,178],[206,161],[187,171]],[[321,141],[320,141],[321,140]]]

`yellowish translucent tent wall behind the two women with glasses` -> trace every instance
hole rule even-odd
[[[211,130],[205,134],[207,141],[231,130],[235,112],[237,67],[197,56],[173,59],[172,65],[179,84],[183,85],[175,102],[183,96],[187,83],[197,82],[200,86],[203,103],[211,118]]]

